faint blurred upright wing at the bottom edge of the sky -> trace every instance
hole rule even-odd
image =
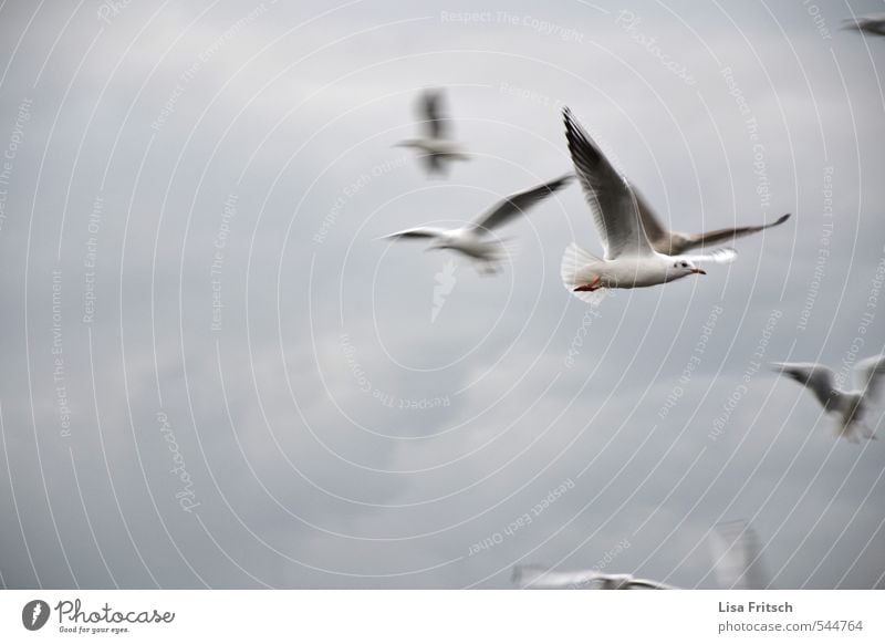
[[[759,537],[745,520],[717,523],[709,537],[712,565],[720,589],[766,588]]]

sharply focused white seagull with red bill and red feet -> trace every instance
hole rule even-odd
[[[670,256],[655,250],[641,216],[647,207],[568,107],[563,110],[563,117],[569,152],[605,247],[604,259],[575,243],[565,249],[562,281],[575,297],[595,304],[607,289],[653,287],[691,274],[707,274],[698,268],[698,262],[728,263],[737,259],[738,253],[731,248],[694,256]]]

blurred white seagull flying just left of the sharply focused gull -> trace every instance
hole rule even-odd
[[[497,272],[498,263],[508,256],[508,246],[497,236],[490,233],[518,215],[522,215],[560,188],[569,185],[574,175],[568,174],[550,181],[511,195],[498,201],[475,222],[461,228],[446,229],[433,227],[408,228],[399,232],[386,235],[381,239],[431,239],[434,245],[427,250],[448,248],[456,250],[479,262],[482,272]]]

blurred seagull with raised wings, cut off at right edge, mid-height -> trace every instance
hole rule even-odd
[[[862,360],[854,366],[858,388],[851,392],[837,389],[835,374],[822,364],[775,362],[771,366],[810,388],[827,414],[836,414],[836,436],[850,443],[860,443],[858,437],[876,438],[875,429],[865,424],[864,415],[868,404],[878,399],[878,388],[885,374],[885,355]]]

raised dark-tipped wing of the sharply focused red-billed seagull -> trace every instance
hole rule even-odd
[[[569,152],[605,247],[605,259],[650,255],[652,247],[639,220],[639,204],[629,183],[612,167],[568,107],[562,114]]]

